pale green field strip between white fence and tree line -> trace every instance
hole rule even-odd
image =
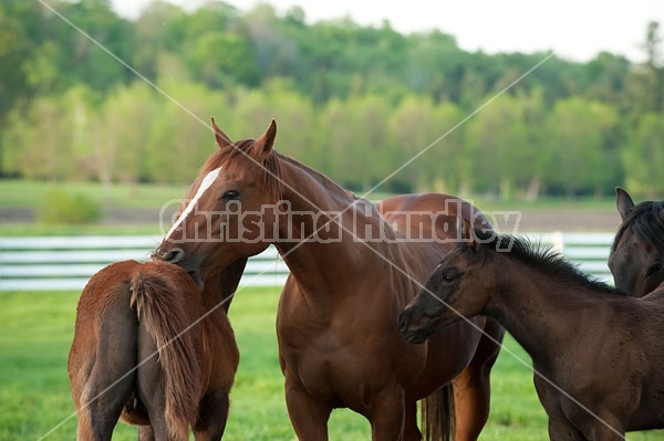
[[[53,188],[69,195],[80,195],[102,207],[102,219],[95,224],[44,224],[39,212],[50,203]],[[0,179],[0,235],[59,234],[158,234],[162,212],[169,227],[177,201],[187,193],[187,185],[121,185],[103,187],[96,182],[45,182]],[[367,195],[380,200],[390,195]],[[615,231],[620,216],[615,199],[610,198],[539,198],[537,201],[508,199],[497,201],[481,195],[461,197],[485,213],[494,214],[500,231]],[[635,199],[640,201],[641,199]],[[169,201],[172,201],[169,203]],[[175,202],[173,202],[175,201]],[[502,213],[511,213],[504,222]],[[519,223],[515,225],[519,213]],[[517,227],[517,230],[515,230]]]

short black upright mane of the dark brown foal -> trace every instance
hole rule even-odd
[[[533,242],[528,238],[518,238],[511,234],[498,234],[495,231],[484,231],[481,229],[475,230],[475,237],[483,248],[504,253],[510,259],[515,259],[558,280],[569,281],[595,292],[618,293],[613,286],[584,273],[578,265],[568,261],[563,254],[541,242]]]

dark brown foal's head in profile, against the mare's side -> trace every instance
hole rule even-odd
[[[484,250],[459,244],[434,270],[425,287],[398,318],[400,332],[411,343],[424,343],[443,327],[478,315],[487,301],[481,262]]]

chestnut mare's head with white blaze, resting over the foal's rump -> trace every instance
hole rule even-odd
[[[281,195],[273,119],[257,139],[234,143],[214,118],[212,129],[217,150],[153,253],[153,259],[177,263],[197,281],[268,248]]]

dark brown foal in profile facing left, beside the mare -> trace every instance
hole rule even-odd
[[[404,337],[496,317],[532,357],[551,440],[664,428],[663,300],[608,295],[614,288],[522,239],[468,223],[464,238],[401,314]]]

